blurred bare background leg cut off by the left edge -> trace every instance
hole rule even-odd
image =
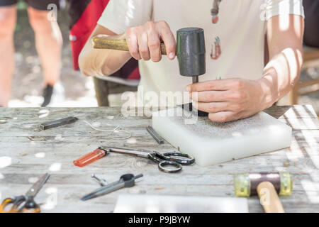
[[[11,79],[14,71],[13,33],[16,26],[15,3],[15,1],[0,1],[0,106],[8,106],[11,97]]]

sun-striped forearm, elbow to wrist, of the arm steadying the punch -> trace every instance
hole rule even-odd
[[[265,108],[272,106],[293,89],[298,82],[302,62],[301,48],[286,48],[272,57],[260,79]]]

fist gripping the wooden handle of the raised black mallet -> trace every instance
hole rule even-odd
[[[130,27],[125,33],[130,54],[136,60],[159,62],[162,59],[161,40],[164,42],[169,60],[176,55],[176,40],[165,21],[148,21],[142,26]]]

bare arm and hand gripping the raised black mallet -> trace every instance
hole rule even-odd
[[[97,25],[91,34],[95,35],[117,35],[113,31]],[[122,35],[117,35],[118,39],[126,39],[129,52],[118,50],[94,50],[91,38],[86,42],[80,56],[79,67],[86,76],[109,75],[119,70],[131,57],[135,60],[152,60],[159,62],[162,59],[161,40],[164,45],[169,60],[174,60],[176,55],[176,40],[165,21],[147,21],[144,25],[133,26]]]

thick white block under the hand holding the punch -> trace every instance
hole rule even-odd
[[[260,112],[250,118],[216,123],[208,117],[184,116],[180,108],[153,113],[152,127],[181,153],[201,166],[216,165],[291,145],[291,127]]]

